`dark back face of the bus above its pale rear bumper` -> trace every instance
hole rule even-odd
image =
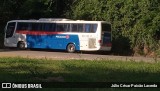
[[[111,47],[111,25],[107,23],[102,23],[102,46]]]

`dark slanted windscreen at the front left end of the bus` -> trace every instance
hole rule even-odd
[[[7,29],[6,29],[6,38],[12,37],[15,29],[15,22],[8,23]]]

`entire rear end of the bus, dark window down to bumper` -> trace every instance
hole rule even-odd
[[[101,24],[101,44],[100,50],[111,51],[112,48],[112,35],[111,35],[111,24],[102,23]]]

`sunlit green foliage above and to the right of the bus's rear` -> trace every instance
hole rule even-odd
[[[128,38],[130,48],[135,52],[138,48],[147,54],[159,46],[156,39],[160,36],[157,34],[159,12],[158,0],[77,0],[72,8],[72,18],[109,21],[113,27],[113,42],[120,37]]]

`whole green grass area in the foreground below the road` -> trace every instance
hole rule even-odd
[[[1,82],[160,82],[160,63],[0,58]],[[21,89],[20,89],[21,90]],[[25,89],[26,90],[26,89]],[[24,91],[25,91],[24,90]],[[42,89],[53,91],[53,89]],[[76,88],[54,89],[75,91]],[[78,91],[116,91],[83,89]],[[118,89],[118,91],[137,89]],[[140,89],[139,91],[150,91]],[[157,89],[155,89],[157,90]],[[2,91],[2,90],[1,90]],[[41,91],[38,89],[37,91]],[[153,89],[152,89],[153,91]]]

